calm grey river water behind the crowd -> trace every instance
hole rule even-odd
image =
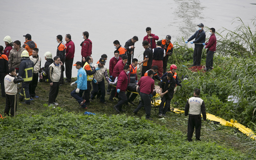
[[[243,22],[250,23],[256,15],[255,0],[141,0],[141,1],[3,1],[0,0],[0,39],[9,35],[12,41],[20,40],[23,44],[27,33],[39,48],[39,56],[44,59],[44,53],[50,51],[56,55],[58,43],[56,36],[71,35],[76,46],[74,62],[81,61],[80,43],[82,32],[89,32],[92,40],[92,57],[95,64],[101,54],[114,56],[113,41],[125,42],[133,36],[138,36],[135,44],[134,58],[142,60],[142,40],[146,36],[146,27],[152,28],[152,33],[164,39],[172,36],[172,42],[185,41],[197,30],[197,25],[221,27],[233,30],[239,22],[233,22],[234,17],[240,17]],[[209,38],[209,34],[207,36]],[[218,39],[218,37],[217,37]],[[64,38],[63,38],[63,41]],[[4,45],[4,41],[0,43]],[[188,44],[189,47],[193,45]],[[109,53],[110,52],[110,53]],[[44,66],[42,60],[41,66]],[[77,76],[73,67],[72,77]]]

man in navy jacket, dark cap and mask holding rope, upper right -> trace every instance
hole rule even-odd
[[[191,44],[195,43],[194,48],[194,54],[193,54],[193,65],[191,66],[200,66],[201,65],[201,56],[202,56],[202,50],[204,45],[202,43],[205,43],[205,31],[204,31],[204,24],[200,23],[198,26],[198,30],[196,33],[188,38],[188,40],[185,42],[186,44],[195,39],[193,42],[190,42]]]

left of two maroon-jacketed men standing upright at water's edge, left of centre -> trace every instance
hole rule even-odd
[[[71,35],[66,34],[65,36],[66,41],[66,60],[65,60],[65,73],[66,73],[66,83],[71,82],[71,75],[72,75],[72,64],[74,60],[74,54],[75,54],[75,44],[71,40]],[[83,66],[82,66],[83,67]]]

